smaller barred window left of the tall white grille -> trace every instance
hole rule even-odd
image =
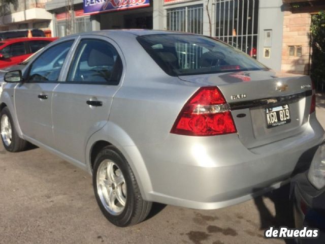
[[[167,29],[203,34],[203,5],[167,9]]]

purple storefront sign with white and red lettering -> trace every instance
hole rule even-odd
[[[149,0],[83,0],[84,13],[101,13],[147,7]]]

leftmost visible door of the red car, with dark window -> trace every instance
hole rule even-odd
[[[3,54],[3,58],[0,62],[0,68],[4,68],[10,65],[16,65],[20,62],[23,62],[30,53],[26,50],[26,43],[25,42],[16,42],[4,47],[1,50]]]

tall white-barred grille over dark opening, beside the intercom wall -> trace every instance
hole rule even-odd
[[[215,36],[256,57],[258,0],[216,0]]]

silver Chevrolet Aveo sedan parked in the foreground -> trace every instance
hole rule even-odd
[[[5,81],[5,148],[30,142],[88,171],[117,226],[152,202],[216,209],[279,187],[324,139],[308,76],[200,35],[72,35]]]

